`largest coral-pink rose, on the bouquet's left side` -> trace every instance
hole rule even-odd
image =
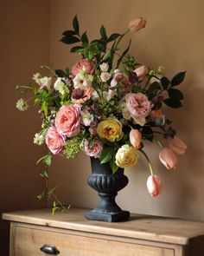
[[[61,135],[67,135],[72,137],[80,133],[80,106],[64,105],[57,112],[55,121],[55,127]]]

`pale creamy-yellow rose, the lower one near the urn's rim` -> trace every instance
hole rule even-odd
[[[138,154],[135,148],[125,144],[118,149],[116,154],[116,164],[118,167],[133,167],[137,164],[137,160]]]

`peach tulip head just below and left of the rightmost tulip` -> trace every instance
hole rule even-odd
[[[159,159],[169,170],[178,166],[178,159],[170,148],[163,148],[159,154]]]

